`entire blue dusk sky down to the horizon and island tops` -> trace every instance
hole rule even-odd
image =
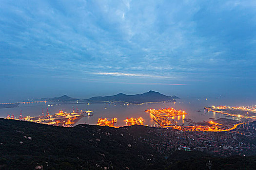
[[[0,0],[0,101],[256,96],[256,1]]]

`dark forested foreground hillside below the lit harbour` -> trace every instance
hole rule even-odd
[[[187,140],[177,135],[184,133],[139,125],[64,128],[0,119],[0,170],[255,169],[256,156],[219,157],[177,150]],[[225,132],[218,134],[227,136]]]

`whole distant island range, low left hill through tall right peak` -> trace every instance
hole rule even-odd
[[[149,92],[143,94],[136,95],[126,95],[123,93],[119,93],[113,96],[97,96],[89,99],[77,99],[71,98],[67,95],[63,95],[61,97],[55,98],[41,98],[41,99],[33,99],[32,101],[49,101],[49,102],[129,102],[129,103],[145,103],[145,102],[164,102],[170,101],[175,102],[175,99],[179,99],[177,96],[166,96],[159,92],[150,90]]]

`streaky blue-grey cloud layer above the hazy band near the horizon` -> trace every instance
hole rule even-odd
[[[255,4],[3,1],[0,72],[185,82],[252,77]]]

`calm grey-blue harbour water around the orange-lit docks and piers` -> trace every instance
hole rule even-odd
[[[125,119],[128,118],[138,118],[142,117],[144,119],[144,125],[154,125],[155,122],[150,117],[149,113],[144,112],[148,108],[168,108],[173,107],[177,110],[185,110],[188,114],[185,115],[185,118],[192,119],[194,121],[209,121],[209,118],[228,118],[225,115],[207,112],[204,111],[204,106],[212,106],[212,105],[255,105],[256,101],[248,101],[246,99],[239,100],[227,100],[224,98],[187,98],[187,99],[177,99],[176,104],[174,103],[158,103],[158,104],[145,104],[145,105],[126,105],[126,104],[61,104],[61,105],[53,105],[48,106],[49,103],[44,104],[20,104],[19,107],[16,108],[6,108],[0,109],[0,117],[6,117],[8,114],[14,114],[16,118],[20,115],[20,109],[22,110],[22,116],[40,116],[42,112],[42,108],[44,109],[44,114],[46,114],[46,110],[48,108],[50,114],[54,114],[59,110],[63,110],[64,112],[72,112],[72,106],[76,109],[78,106],[79,110],[93,110],[93,116],[84,117],[79,120],[78,123],[87,123],[87,124],[97,124],[98,118],[118,118],[117,126],[124,126]],[[196,110],[201,110],[201,112],[197,112]],[[204,115],[202,115],[204,114]],[[182,116],[174,117],[174,120],[179,122],[180,124],[187,124],[186,121],[182,119]]]

